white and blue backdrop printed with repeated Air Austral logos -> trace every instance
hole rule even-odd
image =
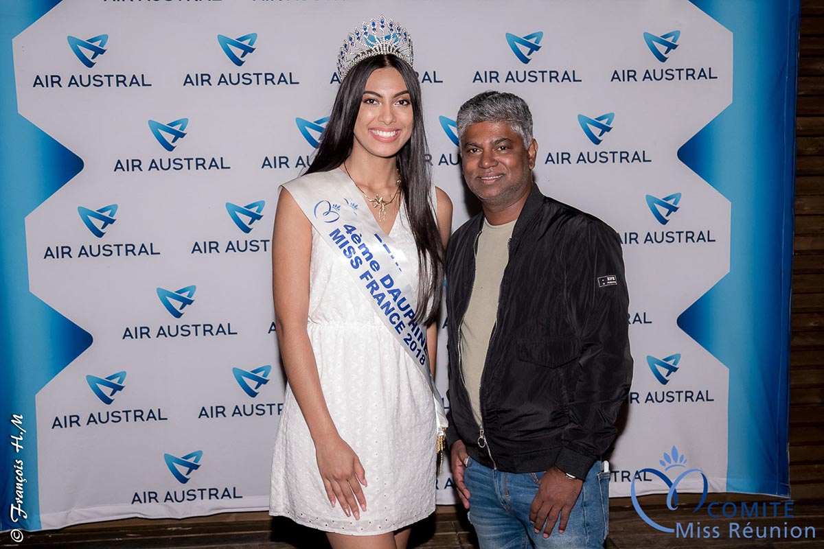
[[[453,227],[477,212],[456,111],[496,89],[531,106],[542,191],[620,234],[611,495],[788,495],[798,3],[777,3],[4,2],[2,529],[268,509],[279,185],[382,13],[414,40]],[[437,489],[454,502],[447,468]]]

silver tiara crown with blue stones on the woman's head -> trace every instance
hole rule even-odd
[[[373,55],[392,54],[412,64],[412,38],[406,29],[380,16],[363,21],[349,33],[338,54],[338,76],[343,81],[352,67]]]

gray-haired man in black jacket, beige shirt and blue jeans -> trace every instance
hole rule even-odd
[[[538,144],[517,95],[458,111],[483,212],[447,253],[452,475],[481,549],[602,547],[602,454],[632,378],[620,239],[532,181]]]

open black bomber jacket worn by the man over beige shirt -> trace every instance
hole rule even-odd
[[[547,198],[533,184],[509,240],[497,319],[480,382],[483,426],[464,385],[459,337],[469,305],[483,213],[447,250],[450,445],[505,472],[557,466],[584,478],[616,438],[630,390],[620,239],[594,216]]]

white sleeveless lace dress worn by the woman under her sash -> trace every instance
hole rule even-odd
[[[405,208],[390,236],[416,265]],[[428,380],[339,261],[312,229],[307,330],[332,420],[366,470],[367,511],[356,521],[339,504],[331,507],[315,444],[287,386],[274,444],[269,514],[326,532],[374,535],[403,528],[435,509],[437,420]],[[411,270],[417,291],[416,268]]]

